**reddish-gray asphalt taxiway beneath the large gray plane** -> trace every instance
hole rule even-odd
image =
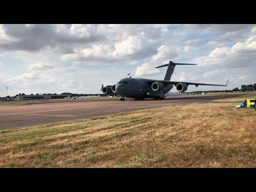
[[[0,106],[0,130],[177,104],[207,103],[213,102],[215,99],[234,98],[238,95],[171,95],[164,100],[145,101],[132,99],[119,101],[119,98],[77,99],[64,102],[34,103],[33,105]]]

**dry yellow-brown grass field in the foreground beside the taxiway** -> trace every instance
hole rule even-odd
[[[256,167],[256,111],[147,109],[0,132],[0,167]]]

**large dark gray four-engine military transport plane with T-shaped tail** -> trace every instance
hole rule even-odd
[[[206,83],[191,83],[191,82],[174,82],[170,81],[173,74],[173,70],[176,65],[196,65],[188,63],[174,63],[170,61],[168,64],[156,67],[167,67],[164,80],[144,79],[144,78],[123,78],[115,85],[101,86],[101,91],[108,95],[119,94],[121,95],[121,101],[125,98],[134,98],[135,100],[145,100],[145,98],[164,99],[165,94],[168,93],[173,85],[175,85],[177,91],[184,92],[188,89],[188,85],[211,85],[211,86],[227,86],[217,84]],[[228,79],[229,80],[229,79]]]

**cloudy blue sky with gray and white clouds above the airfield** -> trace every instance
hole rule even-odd
[[[256,83],[256,25],[0,25],[0,97],[18,93],[100,93],[132,77]],[[223,87],[188,87],[188,91]],[[225,87],[226,89],[226,87]],[[176,91],[175,88],[172,91]]]

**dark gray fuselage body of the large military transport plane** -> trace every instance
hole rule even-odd
[[[163,98],[173,87],[173,84],[163,84],[162,90],[153,91],[152,83],[150,79],[123,78],[116,84],[115,89],[119,95],[126,98]]]

